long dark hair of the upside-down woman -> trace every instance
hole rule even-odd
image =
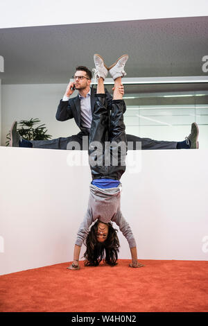
[[[111,222],[107,223],[107,239],[105,239],[104,242],[98,242],[96,237],[98,223],[99,221],[96,221],[96,223],[92,225],[87,235],[85,243],[87,249],[84,254],[85,266],[98,266],[102,260],[110,266],[115,266],[120,247],[119,239],[116,234],[118,231],[112,227]]]

